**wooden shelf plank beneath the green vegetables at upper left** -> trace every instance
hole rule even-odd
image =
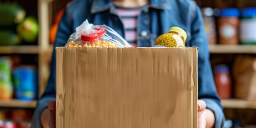
[[[0,46],[0,54],[38,54],[37,45]]]

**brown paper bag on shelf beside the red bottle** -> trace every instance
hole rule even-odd
[[[234,97],[256,101],[256,57],[236,56],[233,64]]]

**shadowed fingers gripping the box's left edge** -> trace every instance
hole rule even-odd
[[[48,104],[49,108],[49,128],[56,127],[56,101],[51,101]]]

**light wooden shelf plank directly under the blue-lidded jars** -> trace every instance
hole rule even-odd
[[[209,45],[210,53],[256,54],[256,45]]]

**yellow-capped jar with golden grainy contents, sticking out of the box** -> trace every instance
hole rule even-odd
[[[166,34],[159,36],[153,47],[186,47],[186,32],[180,27],[171,27]]]

